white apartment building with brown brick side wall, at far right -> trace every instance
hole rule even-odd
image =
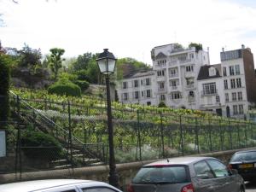
[[[251,49],[220,53],[223,71],[225,116],[242,117],[256,102],[256,77]]]

